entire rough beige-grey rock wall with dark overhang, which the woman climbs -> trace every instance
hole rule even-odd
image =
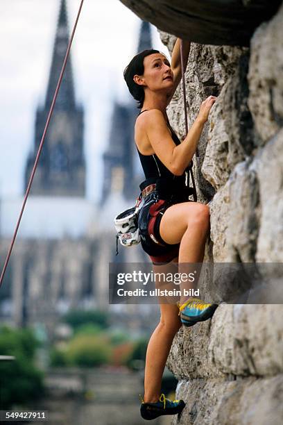
[[[177,6],[170,16],[166,1],[160,14],[155,14],[155,8],[161,10],[160,1],[123,2],[157,25],[166,20],[171,29],[178,9],[175,34],[189,35],[193,1],[173,2]],[[203,2],[199,3],[206,13]],[[257,2],[243,3],[252,7]],[[214,35],[210,43],[221,40],[218,31]],[[161,37],[171,50],[175,37],[167,33]],[[211,212],[205,261],[283,263],[282,69],[283,6],[257,28],[250,49],[191,44],[186,72],[189,124],[201,101],[210,94],[218,96],[200,139],[200,166],[194,161],[198,199],[209,202]],[[169,119],[180,137],[185,133],[182,102],[179,87]],[[209,295],[218,290],[216,298],[223,299],[225,288],[219,281],[214,279],[212,287],[203,284],[201,289]],[[281,288],[282,278],[277,290]],[[279,302],[273,298],[273,303],[265,304],[221,303],[212,320],[182,328],[175,335],[167,365],[179,379],[176,398],[184,399],[187,406],[180,418],[173,417],[173,424],[282,424],[283,307]]]

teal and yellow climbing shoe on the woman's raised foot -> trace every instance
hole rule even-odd
[[[205,303],[199,298],[190,298],[182,306],[178,303],[180,309],[179,316],[185,326],[194,326],[197,322],[203,322],[214,315],[218,304]]]

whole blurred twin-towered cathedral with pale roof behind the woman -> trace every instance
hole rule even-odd
[[[25,187],[42,137],[46,116],[69,40],[66,0],[60,1],[53,58],[43,108],[35,120],[33,153],[28,157]],[[141,24],[139,49],[150,37]],[[83,108],[76,104],[69,61],[51,119],[40,162],[33,180],[21,226],[0,291],[0,317],[17,326],[44,327],[53,338],[60,316],[70,308],[108,308],[108,265],[148,261],[141,246],[120,246],[117,257],[114,215],[135,202],[143,178],[137,161],[133,126],[135,103],[114,103],[108,149],[103,156],[102,201],[94,206],[85,199]],[[4,263],[22,199],[1,202],[0,259]],[[154,306],[141,306],[154,310]],[[139,306],[112,306],[129,326],[139,328],[148,315]]]

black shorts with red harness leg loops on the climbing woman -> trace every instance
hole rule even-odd
[[[169,263],[178,257],[180,244],[167,244],[160,236],[162,214],[171,205],[173,203],[160,199],[157,191],[154,191],[146,196],[139,211],[141,246],[153,263]]]

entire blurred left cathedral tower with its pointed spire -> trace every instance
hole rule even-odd
[[[61,0],[49,82],[44,106],[37,108],[36,112],[35,140],[33,152],[28,156],[26,165],[24,190],[31,176],[68,44],[66,0]],[[83,108],[76,103],[71,56],[69,56],[31,186],[31,194],[51,197],[85,197],[83,128]]]

